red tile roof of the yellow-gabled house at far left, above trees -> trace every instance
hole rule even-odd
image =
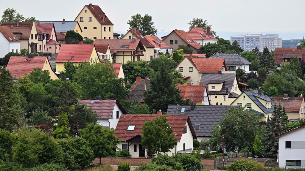
[[[12,74],[12,76],[16,76],[16,79],[23,77],[24,75],[30,74],[34,68],[42,69],[45,65],[46,56],[34,56],[34,58],[25,61],[24,56],[11,56],[9,58],[9,63],[6,66],[6,69]],[[51,72],[51,71],[49,71]]]

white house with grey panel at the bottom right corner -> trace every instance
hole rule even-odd
[[[282,168],[305,167],[305,125],[278,135],[278,166]]]

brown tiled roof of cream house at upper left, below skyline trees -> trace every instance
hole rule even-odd
[[[21,33],[21,35],[17,36],[19,40],[29,40],[30,34],[32,31],[34,22],[19,22],[19,26],[17,26],[17,22],[3,22],[1,26],[9,28],[14,34]],[[13,26],[13,27],[11,27]]]

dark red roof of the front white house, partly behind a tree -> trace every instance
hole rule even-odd
[[[156,117],[165,116],[168,123],[172,126],[173,133],[177,141],[181,140],[185,124],[188,123],[192,127],[192,123],[188,115],[154,115],[154,114],[123,114],[120,116],[117,127],[114,130],[114,136],[127,141],[135,136],[142,136],[142,126],[147,121],[152,121]],[[134,131],[127,131],[129,125],[134,125]],[[197,139],[194,129],[191,128],[193,139]]]

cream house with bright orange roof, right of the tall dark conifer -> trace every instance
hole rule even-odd
[[[194,56],[185,57],[176,67],[182,75],[185,75],[187,82],[199,84],[202,73],[217,73],[218,71],[226,71],[226,63],[224,59],[207,59],[197,58]]]

